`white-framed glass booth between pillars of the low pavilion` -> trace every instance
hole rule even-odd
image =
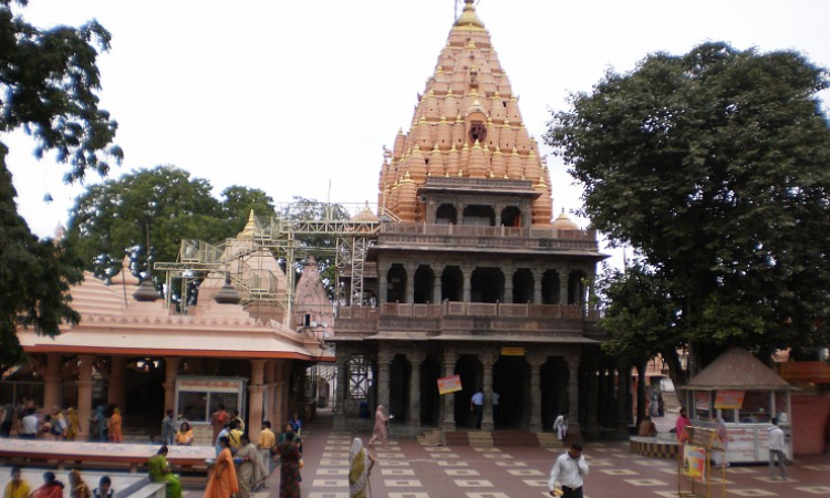
[[[214,446],[210,415],[219,403],[227,412],[239,409],[245,419],[246,383],[239,377],[179,376],[176,378],[176,416],[178,423],[193,427],[194,445]]]

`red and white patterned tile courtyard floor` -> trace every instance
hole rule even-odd
[[[367,434],[359,434],[364,442]],[[352,435],[331,430],[331,414],[322,413],[303,428],[305,469],[302,496],[349,498],[347,456]],[[390,498],[520,498],[549,496],[548,475],[561,453],[544,448],[426,447],[416,440],[392,440],[378,447],[380,466],[371,476],[372,496]],[[629,453],[627,442],[590,443],[584,455],[591,474],[587,498],[677,497],[677,475],[672,460],[644,458]],[[726,469],[726,496],[830,497],[830,456],[800,457],[787,471],[790,480],[771,480],[766,465]],[[269,489],[253,498],[278,496],[279,470]],[[691,485],[684,483],[683,490]],[[720,486],[713,485],[719,497]],[[187,490],[185,498],[200,498]]]

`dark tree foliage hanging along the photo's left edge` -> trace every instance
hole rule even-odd
[[[69,166],[66,181],[90,169],[105,175],[108,162],[123,157],[112,145],[117,124],[98,108],[96,95],[98,50],[108,48],[110,33],[95,21],[42,30],[0,0],[0,138],[25,129],[37,157],[54,153]],[[62,321],[77,323],[65,292],[83,279],[66,242],[38,240],[18,215],[8,152],[0,142],[0,366],[23,359],[19,328],[55,335]]]

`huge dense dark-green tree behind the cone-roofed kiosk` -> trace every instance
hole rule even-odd
[[[609,71],[547,135],[584,215],[678,303],[698,366],[723,346],[828,344],[828,72],[792,51],[705,43]],[[656,351],[653,351],[656,353]]]

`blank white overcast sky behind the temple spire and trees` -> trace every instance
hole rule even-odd
[[[125,159],[111,177],[173,164],[217,196],[242,185],[278,203],[376,201],[381,147],[408,129],[454,21],[453,0],[30,0],[17,10],[39,27],[95,18],[112,33],[100,96]],[[724,40],[830,66],[826,1],[483,0],[477,10],[540,145],[549,110],[566,108],[570,92],[651,52]],[[22,134],[3,141],[20,211],[51,236],[83,187],[63,186],[66,167],[37,162]],[[578,208],[563,164],[548,164],[554,212]]]

